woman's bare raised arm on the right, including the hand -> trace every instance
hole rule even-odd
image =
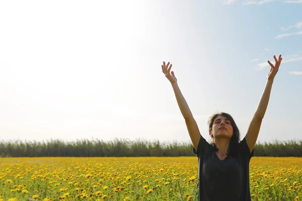
[[[267,109],[274,77],[279,70],[279,66],[280,66],[281,60],[282,60],[281,55],[279,56],[278,60],[277,60],[276,56],[274,55],[274,59],[276,62],[275,66],[270,61],[267,61],[269,63],[269,65],[271,66],[271,69],[267,75],[266,85],[265,85],[264,91],[262,93],[262,96],[259,100],[257,110],[254,114],[254,117],[249,125],[248,132],[246,134],[246,141],[249,146],[250,152],[252,152],[255,147],[255,144],[256,144],[256,141],[258,138],[258,134],[260,131],[262,119],[264,118],[265,111]]]

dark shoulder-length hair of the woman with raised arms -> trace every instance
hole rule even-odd
[[[238,129],[233,117],[230,114],[221,112],[221,113],[215,113],[212,116],[210,116],[209,120],[208,120],[209,132],[212,131],[213,122],[216,119],[216,117],[219,115],[228,118],[231,121],[231,124],[233,127],[233,136],[230,140],[229,154],[227,154],[227,155],[237,156],[238,149],[239,149],[239,142],[240,142],[240,132],[239,132],[239,129]],[[210,145],[212,146],[214,151],[218,151],[219,149],[216,147],[213,136],[211,136],[211,138],[212,139],[209,142]]]

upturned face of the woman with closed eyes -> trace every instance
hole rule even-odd
[[[210,131],[210,136],[215,138],[232,138],[233,136],[233,126],[228,118],[218,115],[213,121],[212,131]]]

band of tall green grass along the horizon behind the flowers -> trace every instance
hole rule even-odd
[[[50,140],[43,142],[2,141],[1,157],[138,157],[138,156],[194,156],[191,143],[117,139],[77,140],[64,142]],[[256,144],[255,156],[302,157],[302,140]]]

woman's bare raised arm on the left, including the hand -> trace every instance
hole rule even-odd
[[[177,104],[179,106],[181,114],[183,115],[183,117],[185,119],[192,144],[193,144],[194,148],[197,150],[197,146],[198,146],[201,135],[200,135],[197,123],[191,113],[191,110],[190,110],[183,94],[180,91],[180,88],[177,83],[177,78],[175,77],[174,72],[172,71],[170,74],[172,64],[170,65],[170,67],[169,67],[169,64],[170,64],[170,62],[168,62],[168,64],[166,65],[166,63],[164,61],[164,65],[162,65],[162,70],[163,70],[163,73],[165,73],[168,80],[170,81],[170,83],[172,84],[172,87],[173,87],[173,90],[174,90],[174,93],[176,96]]]

